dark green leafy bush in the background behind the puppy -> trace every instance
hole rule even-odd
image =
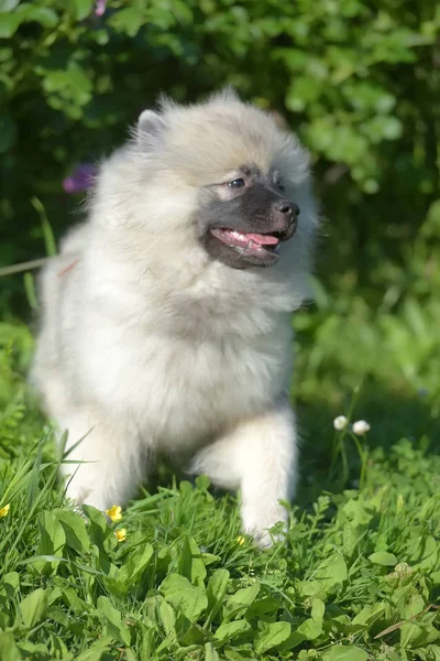
[[[424,371],[440,369],[433,0],[114,0],[102,15],[91,0],[1,7],[0,263],[44,254],[42,215],[58,237],[78,213],[63,178],[120,144],[162,90],[191,101],[232,84],[280,112],[314,155],[327,221],[318,306],[296,322],[310,347],[304,397],[336,380],[334,360],[348,384],[374,364],[396,387],[440,392]],[[1,308],[23,311],[21,278],[0,284]]]

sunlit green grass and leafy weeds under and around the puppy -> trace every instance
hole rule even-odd
[[[265,553],[234,497],[166,467],[121,521],[76,513],[25,387],[31,334],[0,324],[1,660],[440,660],[439,305],[318,303],[295,321],[300,487]],[[334,432],[351,409],[366,437]]]

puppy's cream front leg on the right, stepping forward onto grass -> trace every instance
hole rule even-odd
[[[227,436],[196,455],[191,470],[213,484],[241,488],[243,529],[261,546],[270,546],[267,529],[287,521],[279,500],[295,490],[297,435],[295,415],[287,404],[241,423]]]

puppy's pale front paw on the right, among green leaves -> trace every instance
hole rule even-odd
[[[243,506],[241,517],[244,532],[254,538],[260,549],[271,549],[274,543],[284,540],[287,530],[287,511],[278,503],[273,507]],[[270,532],[270,529],[277,523],[276,530]]]

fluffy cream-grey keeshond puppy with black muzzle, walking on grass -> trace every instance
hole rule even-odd
[[[141,115],[42,275],[33,378],[68,430],[72,499],[123,505],[168,455],[240,489],[243,530],[271,544],[316,223],[308,156],[271,115],[232,91]]]

